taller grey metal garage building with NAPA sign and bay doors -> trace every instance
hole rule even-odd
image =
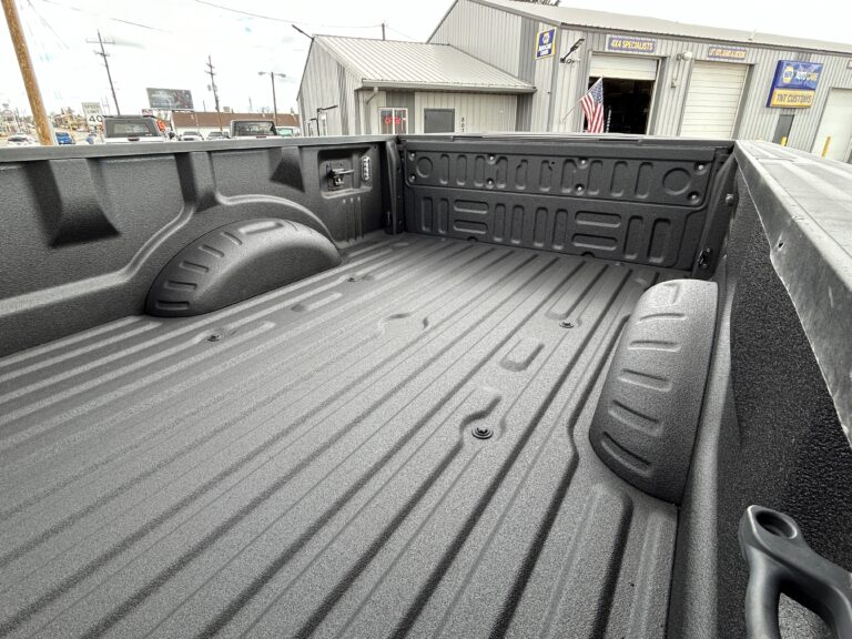
[[[532,84],[519,131],[582,131],[575,105],[602,77],[611,132],[852,153],[850,44],[510,0],[457,0],[428,41]]]

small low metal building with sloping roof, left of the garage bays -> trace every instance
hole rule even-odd
[[[306,135],[515,131],[534,91],[446,44],[317,36],[298,109]]]

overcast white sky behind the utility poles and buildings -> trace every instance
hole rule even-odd
[[[87,43],[100,29],[105,40],[114,42],[108,52],[119,104],[123,112],[139,113],[148,106],[146,87],[189,89],[196,109],[212,110],[204,74],[207,54],[219,73],[223,105],[242,111],[251,100],[255,110],[271,109],[270,79],[257,72],[274,71],[286,74],[277,80],[278,110],[295,110],[310,41],[288,21],[308,33],[361,38],[381,37],[379,24],[385,21],[388,39],[423,41],[452,2],[18,0],[18,6],[49,110],[73,106],[79,111],[81,102],[108,99],[101,59],[93,53],[95,47]],[[852,9],[839,0],[562,0],[561,4],[852,43]],[[0,103],[29,112],[8,31],[0,26]]]

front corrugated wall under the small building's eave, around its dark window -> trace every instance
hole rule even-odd
[[[515,95],[417,91],[414,94],[414,104],[415,133],[423,133],[424,109],[455,109],[456,133],[515,131]]]

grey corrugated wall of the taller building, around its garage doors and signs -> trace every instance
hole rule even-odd
[[[475,26],[475,28],[474,28]],[[549,27],[529,18],[485,7],[473,0],[458,0],[444,22],[438,27],[432,42],[452,44],[484,60],[521,80],[535,82],[537,91],[531,99],[520,98],[516,130],[530,131],[580,131],[582,113],[571,109],[586,91],[591,54],[606,51],[606,39],[612,31],[564,29],[558,40],[558,57],[535,60],[535,40],[539,30]],[[650,114],[649,133],[678,135],[683,105],[689,88],[691,62],[677,60],[677,54],[691,51],[693,60],[709,60],[708,49],[713,42],[687,38],[659,37],[657,40],[659,70]],[[559,64],[558,58],[579,38],[585,44],[571,57],[578,61]],[[718,42],[714,42],[718,44]],[[750,72],[740,105],[736,136],[743,139],[771,140],[781,113],[794,115],[788,143],[790,146],[810,151],[822,116],[822,110],[831,88],[852,88],[850,57],[819,54],[792,49],[769,49],[743,43],[748,54],[744,64]],[[779,60],[799,59],[824,64],[814,104],[810,109],[768,109],[767,98],[770,83]],[[556,78],[554,70],[556,68]],[[672,81],[674,80],[674,85]],[[552,104],[551,100],[552,95]],[[568,116],[566,118],[566,114]]]

